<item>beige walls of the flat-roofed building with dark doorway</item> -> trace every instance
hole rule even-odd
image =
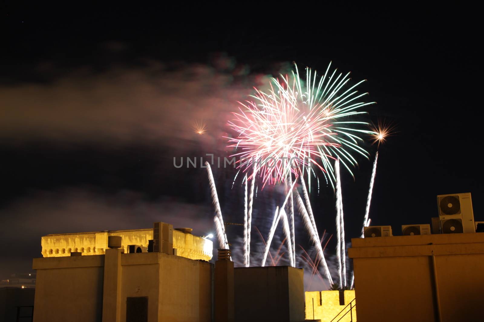
[[[160,252],[123,253],[120,292],[103,294],[104,276],[115,275],[105,271],[105,256],[35,258],[34,321],[105,321],[107,298],[120,304],[119,319],[113,321],[125,322],[127,297],[139,296],[148,296],[150,322],[211,321],[212,264]]]

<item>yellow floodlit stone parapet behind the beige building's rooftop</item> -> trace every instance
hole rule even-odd
[[[153,239],[153,230],[148,228],[47,235],[42,237],[42,256],[70,256],[71,252],[102,255],[107,248],[108,236],[121,236],[121,248],[127,251],[128,245],[148,247],[148,240]],[[173,248],[177,250],[178,256],[205,261],[212,259],[212,241],[189,233],[173,230]]]

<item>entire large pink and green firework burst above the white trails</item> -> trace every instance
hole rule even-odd
[[[364,114],[359,109],[372,104],[360,101],[367,93],[359,94],[352,86],[349,73],[330,72],[317,79],[316,72],[306,68],[303,82],[295,65],[291,76],[272,78],[266,93],[256,89],[251,101],[240,103],[240,112],[228,125],[237,132],[229,138],[229,147],[239,149],[232,156],[240,158],[239,168],[255,168],[263,184],[284,182],[290,172],[296,178],[304,171],[318,168],[334,188],[331,159],[339,158],[351,173],[357,164],[353,153],[368,157],[359,146],[360,135],[374,134],[360,128],[368,125],[355,116]],[[242,161],[243,160],[243,161]]]

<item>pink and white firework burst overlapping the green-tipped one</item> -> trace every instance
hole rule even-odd
[[[243,108],[229,122],[239,133],[229,146],[240,149],[233,154],[240,158],[240,167],[254,166],[264,184],[285,181],[289,171],[297,177],[309,163],[324,171],[315,161],[321,154],[318,147],[338,144],[325,139],[334,133],[322,131],[331,126],[322,110],[301,111],[297,96],[278,96],[273,88],[270,95],[256,91],[259,104],[241,103]]]

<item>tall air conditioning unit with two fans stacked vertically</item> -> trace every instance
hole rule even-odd
[[[474,213],[470,193],[437,196],[440,228],[443,234],[474,233]]]

